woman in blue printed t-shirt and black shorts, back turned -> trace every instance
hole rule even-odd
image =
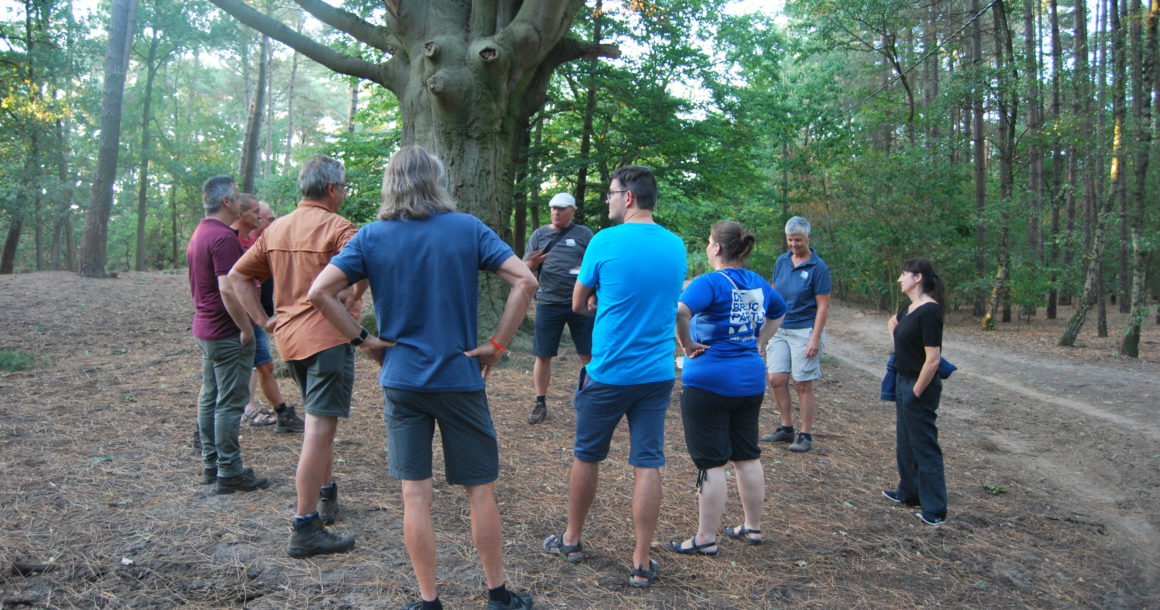
[[[668,543],[681,554],[717,554],[725,464],[731,460],[745,522],[725,533],[761,543],[766,475],[757,459],[757,414],[766,369],[757,346],[777,329],[785,302],[760,275],[745,269],[753,244],[753,233],[737,223],[715,224],[705,250],[715,270],[690,282],[677,303],[676,334],[686,355],[681,419],[701,489],[697,533]]]

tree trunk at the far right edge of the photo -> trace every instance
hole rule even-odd
[[[1140,327],[1147,317],[1147,268],[1148,253],[1144,245],[1144,224],[1146,223],[1146,198],[1147,198],[1147,175],[1148,159],[1152,154],[1152,100],[1148,90],[1155,82],[1157,55],[1160,49],[1157,45],[1157,21],[1160,17],[1160,2],[1152,0],[1151,7],[1145,12],[1140,9],[1139,0],[1132,1],[1132,116],[1136,117],[1136,141],[1133,147],[1134,167],[1132,201],[1134,202],[1131,218],[1131,242],[1132,242],[1132,284],[1131,284],[1131,315],[1128,318],[1128,326],[1124,328],[1124,336],[1119,344],[1119,353],[1124,356],[1138,358],[1140,356]],[[1147,31],[1147,42],[1141,36],[1141,21]],[[1160,310],[1158,310],[1160,317]]]

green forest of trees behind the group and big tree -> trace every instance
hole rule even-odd
[[[346,162],[341,213],[374,219],[415,129],[398,96],[215,7],[239,3],[0,1],[0,274],[182,267],[205,177],[235,173],[282,215],[316,153]],[[1157,0],[537,3],[575,6],[566,36],[596,51],[549,72],[514,136],[510,202],[485,216],[517,253],[561,190],[607,226],[610,173],[641,164],[694,271],[730,218],[768,273],[802,215],[842,299],[894,307],[900,262],[925,255],[984,327],[1075,305],[1061,344],[1090,312],[1137,355],[1160,324]],[[387,55],[317,0],[248,6],[335,57]],[[341,7],[379,23],[398,5]]]

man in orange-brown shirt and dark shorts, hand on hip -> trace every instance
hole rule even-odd
[[[354,536],[338,536],[324,525],[338,520],[334,482],[334,435],[339,417],[350,414],[355,360],[350,341],[331,326],[309,300],[314,276],[355,234],[349,220],[338,215],[346,199],[342,162],[325,155],[306,161],[298,174],[298,208],[270,225],[230,271],[242,304],[259,326],[274,333],[278,351],[298,385],[306,407],[306,434],[295,474],[298,494],[293,533],[287,554],[304,558],[342,553]],[[252,288],[255,279],[274,277],[274,315],[268,315]],[[345,286],[343,306],[351,315],[362,311],[365,284]]]

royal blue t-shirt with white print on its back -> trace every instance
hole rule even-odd
[[[690,282],[681,303],[693,312],[693,340],[709,346],[684,358],[681,383],[724,397],[764,393],[757,335],[766,319],[785,314],[785,300],[769,282],[748,269],[720,269]]]

